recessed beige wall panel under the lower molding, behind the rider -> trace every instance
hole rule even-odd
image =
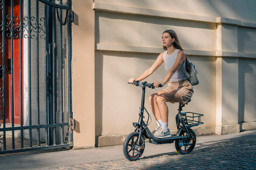
[[[96,81],[98,84],[96,91],[99,91],[96,93],[96,135],[129,134],[134,129],[132,123],[138,121],[141,88],[127,84],[127,78],[138,77],[140,73],[154,63],[157,54],[97,52],[95,57],[98,58],[96,63],[99,63],[97,65],[99,68],[97,72],[100,72],[96,74],[96,76],[99,76],[98,81]],[[201,83],[194,87],[195,95],[191,103],[186,106],[185,111],[204,113],[205,117],[203,121],[205,124],[202,127],[214,126],[215,81],[210,81],[211,77],[207,75],[211,75],[213,78],[215,76],[215,57],[188,57],[198,65],[198,71],[205,70],[205,72],[200,75]],[[103,69],[101,70],[100,67]],[[162,65],[145,81],[153,82],[155,80],[162,80],[165,74],[166,72]],[[147,89],[146,96],[148,97],[157,90]],[[205,94],[207,94],[207,97]],[[175,131],[174,117],[177,114],[178,104],[168,105],[169,128]],[[150,115],[153,116],[147,99],[146,108]],[[156,126],[154,117],[152,117],[152,120],[149,126],[150,128]]]

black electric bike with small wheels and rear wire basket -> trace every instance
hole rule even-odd
[[[154,83],[134,81],[130,84],[134,84],[135,86],[142,88],[142,99],[139,111],[139,121],[138,123],[133,123],[135,130],[134,132],[130,133],[124,141],[124,156],[128,160],[139,159],[145,150],[145,138],[149,139],[149,143],[154,144],[173,143],[175,141],[175,149],[179,152],[179,154],[189,154],[196,145],[196,134],[190,128],[193,126],[198,126],[199,124],[203,124],[203,122],[201,122],[201,117],[203,114],[193,112],[182,113],[182,107],[184,107],[185,104],[179,104],[179,113],[175,117],[177,133],[172,134],[170,138],[156,138],[148,129],[149,118],[151,121],[151,117],[147,109],[144,107],[146,87],[154,89]],[[145,117],[144,111],[146,111],[148,114],[146,123],[143,121],[143,118]]]

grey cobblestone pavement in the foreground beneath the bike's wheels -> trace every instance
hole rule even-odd
[[[256,141],[215,143],[193,150],[188,155],[169,152],[148,157],[142,155],[142,158],[133,162],[121,159],[50,169],[256,169]]]

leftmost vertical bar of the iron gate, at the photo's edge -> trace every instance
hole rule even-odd
[[[5,1],[3,1],[3,11],[2,11],[2,22],[3,22],[3,32],[2,32],[2,40],[3,40],[3,129],[5,128]],[[3,150],[6,150],[6,133],[3,133]]]

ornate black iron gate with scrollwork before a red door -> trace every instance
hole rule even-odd
[[[73,146],[71,0],[0,0],[0,15],[0,154]]]

